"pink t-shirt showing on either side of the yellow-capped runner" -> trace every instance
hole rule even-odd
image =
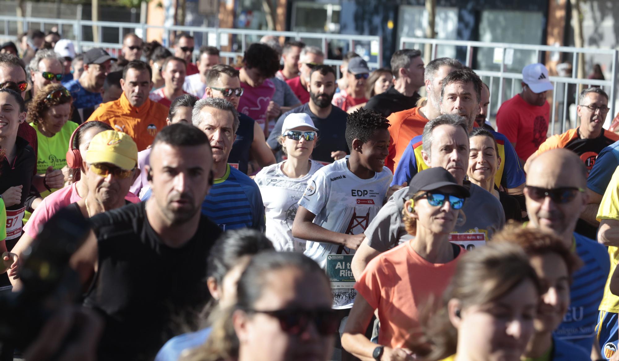
[[[80,199],[82,199],[82,197],[77,194],[76,183],[73,183],[71,186],[58,189],[58,191],[46,196],[43,198],[43,201],[41,201],[32,215],[30,215],[28,222],[24,225],[24,233],[32,238],[37,237],[41,227],[43,227],[45,222],[47,222],[52,215],[58,212],[59,209],[66,207],[71,203],[75,203]],[[140,199],[131,192],[127,193],[127,196],[124,199],[132,203],[137,203],[140,201]]]

